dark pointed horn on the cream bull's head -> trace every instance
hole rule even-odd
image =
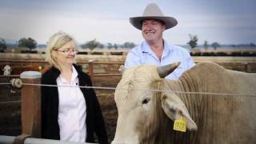
[[[165,78],[167,75],[172,73],[180,65],[180,63],[181,62],[175,62],[166,66],[158,66],[158,74],[160,78]]]

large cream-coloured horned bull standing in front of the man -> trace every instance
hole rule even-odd
[[[178,65],[142,65],[124,71],[114,94],[118,122],[112,143],[255,144],[256,74],[202,62],[178,81],[165,79]],[[173,130],[181,117],[186,132]]]

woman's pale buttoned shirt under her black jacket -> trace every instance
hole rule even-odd
[[[72,67],[71,83],[60,74],[58,85],[58,125],[60,140],[86,142],[86,100],[79,87],[78,72]]]

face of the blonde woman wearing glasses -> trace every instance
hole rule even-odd
[[[73,42],[67,42],[58,50],[53,50],[55,61],[60,66],[72,65],[78,50]]]

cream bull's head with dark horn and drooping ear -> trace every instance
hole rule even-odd
[[[112,143],[154,143],[158,131],[167,123],[163,121],[170,124],[170,119],[174,121],[181,115],[186,119],[188,129],[196,129],[177,95],[154,91],[178,66],[179,62],[162,67],[142,65],[123,72],[114,94],[118,123]],[[168,126],[166,129],[171,130]]]

